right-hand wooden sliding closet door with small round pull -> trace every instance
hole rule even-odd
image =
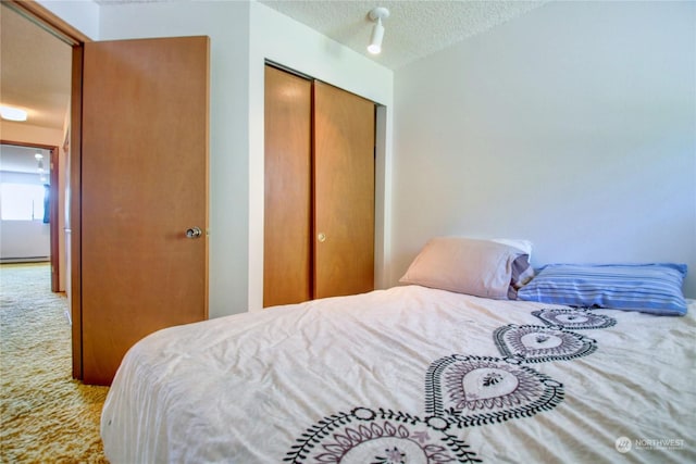
[[[374,103],[314,83],[314,298],[374,289]]]

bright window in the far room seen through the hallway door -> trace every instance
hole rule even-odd
[[[0,185],[2,221],[42,221],[48,223],[49,187],[36,184]]]

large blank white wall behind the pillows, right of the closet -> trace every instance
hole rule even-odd
[[[395,73],[394,283],[438,235],[689,265],[696,3],[552,2]]]

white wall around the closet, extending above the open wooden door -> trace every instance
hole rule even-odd
[[[393,75],[256,2],[100,9],[100,40],[187,35],[211,38],[210,316],[219,317],[262,304],[264,59],[389,108]]]

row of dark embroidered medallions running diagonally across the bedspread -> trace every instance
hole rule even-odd
[[[425,375],[425,416],[388,409],[356,407],[308,428],[284,462],[475,463],[476,453],[457,435],[464,427],[533,416],[562,402],[563,385],[526,365],[586,356],[597,342],[570,329],[613,326],[588,309],[532,312],[547,326],[507,325],[493,341],[504,358],[451,354]]]

